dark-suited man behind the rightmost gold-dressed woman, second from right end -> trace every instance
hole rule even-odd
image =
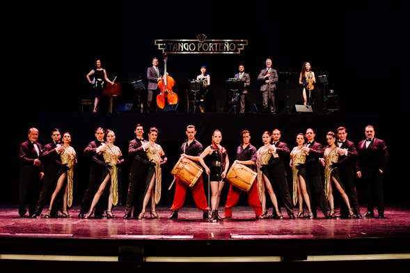
[[[354,168],[356,166],[357,150],[352,141],[346,139],[347,129],[345,127],[338,127],[337,129],[338,141],[336,142],[337,153],[339,155],[336,166],[340,175],[340,180],[343,182],[345,192],[349,197],[350,205],[357,218],[362,218],[360,207],[358,205],[357,191],[354,185]],[[333,193],[334,194],[334,193]],[[345,202],[340,203],[340,217],[347,218],[348,210]]]

